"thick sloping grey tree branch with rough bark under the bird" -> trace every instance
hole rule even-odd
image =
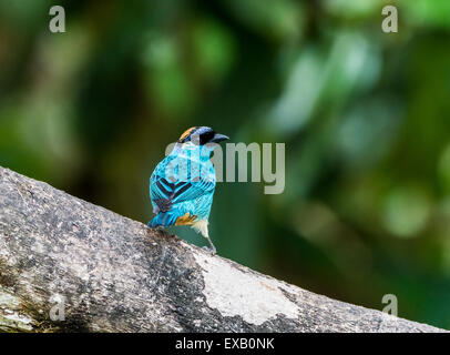
[[[304,291],[0,168],[0,331],[440,329]]]

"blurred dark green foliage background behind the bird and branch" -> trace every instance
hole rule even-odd
[[[147,222],[188,126],[285,142],[283,194],[218,184],[219,254],[450,328],[448,0],[60,1],[65,33],[52,4],[0,1],[1,165]]]

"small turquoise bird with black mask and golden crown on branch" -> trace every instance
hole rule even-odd
[[[208,216],[213,203],[216,174],[209,158],[217,143],[228,136],[208,126],[193,126],[176,142],[150,178],[150,197],[156,216],[150,227],[191,225],[216,248],[208,234]]]

